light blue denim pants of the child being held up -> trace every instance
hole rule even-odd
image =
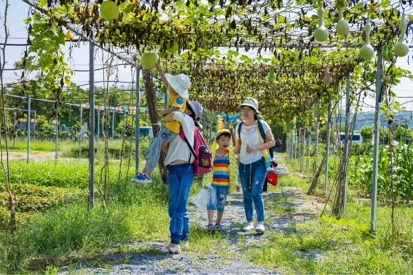
[[[163,127],[160,129],[160,132],[156,137],[152,140],[151,144],[149,144],[146,156],[146,168],[149,171],[155,170],[156,165],[158,165],[159,157],[160,157],[160,146],[162,143],[169,143],[173,140],[173,137],[176,137],[177,133],[173,133],[173,131],[167,129],[167,127]]]

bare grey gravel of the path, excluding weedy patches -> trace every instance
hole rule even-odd
[[[286,175],[288,171],[285,166],[279,164],[277,168],[280,175]],[[296,187],[278,187],[275,192],[268,192],[264,195],[266,206],[271,203],[271,198],[275,196],[288,197],[288,206],[294,208],[282,215],[277,215],[268,211],[266,215],[266,228],[271,230],[289,232],[293,230],[296,223],[302,223],[308,219],[313,219],[320,208],[321,203],[311,202],[306,199],[306,195]],[[207,213],[204,209],[189,206],[191,222],[198,222],[207,225]],[[242,257],[242,245],[257,245],[266,240],[270,234],[259,235],[255,232],[242,232],[241,228],[245,222],[244,207],[242,203],[242,193],[233,192],[228,197],[228,205],[225,208],[224,232],[225,247],[229,250],[230,257],[220,258],[213,252],[211,254],[199,254],[197,252],[182,252],[179,255],[160,254],[158,251],[165,246],[165,243],[133,242],[130,245],[144,248],[143,252],[129,252],[128,254],[105,254],[103,262],[97,266],[89,262],[78,264],[75,270],[68,268],[61,270],[61,274],[279,274],[277,270],[268,270],[248,262]],[[228,239],[228,241],[226,241]],[[101,258],[100,258],[101,259]],[[126,259],[126,260],[125,260]],[[108,264],[110,263],[110,264]],[[86,267],[85,267],[86,266]]]

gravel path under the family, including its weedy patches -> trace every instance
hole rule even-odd
[[[282,160],[279,160],[282,162]],[[285,166],[277,168],[280,176],[288,174]],[[277,186],[264,194],[266,206],[266,233],[242,232],[245,223],[242,192],[229,195],[225,208],[223,232],[209,233],[207,211],[189,206],[191,234],[209,234],[209,249],[202,249],[199,243],[191,243],[190,251],[179,255],[161,254],[164,242],[131,242],[128,252],[99,255],[94,261],[85,261],[76,266],[65,267],[62,274],[281,274],[280,270],[268,269],[254,264],[248,249],[260,248],[277,232],[294,232],[295,225],[314,217],[324,206],[310,202],[297,187]],[[276,261],[276,259],[274,259]]]

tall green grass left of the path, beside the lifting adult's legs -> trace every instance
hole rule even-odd
[[[99,199],[89,212],[87,203],[78,202],[34,214],[14,236],[3,232],[0,272],[69,264],[134,239],[168,241],[166,187],[158,183],[156,188],[132,184],[117,188],[125,190],[107,203],[108,211]]]

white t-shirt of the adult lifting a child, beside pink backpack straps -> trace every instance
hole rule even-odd
[[[193,119],[184,113],[179,111],[173,112],[173,120],[180,122],[182,125],[182,129],[184,130],[185,136],[191,146],[193,146],[193,134],[195,131],[195,124],[193,123]],[[191,156],[191,163],[193,162],[194,158],[189,150],[187,142],[182,140],[182,138],[177,135],[171,142],[169,142],[169,149],[167,156],[165,157],[165,165],[169,165],[176,160],[184,160],[188,161],[189,157]]]

